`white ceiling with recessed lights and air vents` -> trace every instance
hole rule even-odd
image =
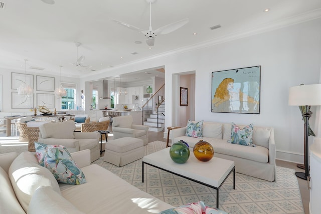
[[[148,29],[146,0],[54,0],[53,5],[41,0],[0,2],[5,3],[0,9],[0,67],[25,71],[24,59],[28,59],[27,71],[59,75],[62,65],[63,75],[71,77],[108,72],[110,66],[321,17],[320,0],[157,0],[151,6],[153,30],[185,18],[189,23],[158,35],[154,47],[148,49],[142,34],[110,21]],[[265,13],[267,8],[270,11]],[[221,28],[210,30],[215,25]],[[78,57],[85,56],[84,64],[92,68],[72,65],[75,41],[82,43]]]

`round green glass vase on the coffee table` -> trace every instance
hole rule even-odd
[[[185,163],[190,157],[190,149],[185,143],[178,141],[171,146],[170,156],[176,163]]]

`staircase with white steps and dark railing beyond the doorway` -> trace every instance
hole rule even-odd
[[[162,132],[165,127],[165,84],[142,106],[142,124],[149,131]]]

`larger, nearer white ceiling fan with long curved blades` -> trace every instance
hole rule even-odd
[[[123,25],[127,28],[130,28],[131,30],[141,32],[146,37],[146,43],[148,46],[154,46],[155,37],[157,36],[157,34],[169,34],[173,31],[176,31],[177,29],[181,28],[182,26],[184,26],[189,22],[189,19],[186,18],[184,20],[180,20],[180,21],[168,24],[166,26],[163,26],[153,31],[151,28],[151,4],[156,2],[156,0],[146,0],[146,2],[149,3],[149,29],[148,30],[142,30],[140,28],[137,28],[135,26],[129,25],[127,23],[124,23],[115,19],[110,19],[110,20],[117,24]]]

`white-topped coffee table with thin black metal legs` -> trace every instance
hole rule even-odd
[[[235,189],[234,161],[214,157],[202,162],[191,154],[186,163],[175,163],[170,157],[170,147],[154,152],[142,159],[142,182],[144,182],[144,163],[187,178],[194,182],[216,189],[216,207],[219,207],[219,189],[233,171],[233,189]]]

